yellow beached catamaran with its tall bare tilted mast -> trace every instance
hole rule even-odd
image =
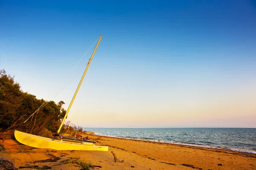
[[[28,145],[28,146],[31,146],[31,147],[36,147],[36,148],[49,148],[49,149],[54,149],[54,150],[99,150],[99,151],[108,151],[108,147],[106,146],[97,146],[95,145],[95,141],[90,141],[90,140],[87,140],[87,139],[78,139],[78,138],[69,138],[69,137],[66,137],[66,136],[63,136],[63,135],[60,135],[60,131],[61,131],[61,127],[63,126],[64,124],[64,121],[66,120],[67,118],[67,114],[68,112],[70,111],[70,108],[73,104],[73,101],[75,100],[76,98],[76,94],[82,84],[82,81],[84,79],[84,76],[87,72],[87,69],[89,68],[90,66],[90,62],[92,61],[93,59],[93,55],[95,54],[96,52],[96,49],[99,45],[99,42],[102,38],[102,35],[100,35],[99,37],[99,40],[96,44],[96,47],[93,51],[93,54],[91,55],[90,57],[90,60],[88,61],[87,63],[87,66],[84,70],[84,74],[79,82],[79,85],[76,89],[76,92],[70,102],[70,105],[67,109],[67,112],[61,122],[61,125],[58,129],[58,132],[53,134],[53,138],[46,138],[46,137],[42,137],[42,136],[38,136],[38,135],[32,135],[32,134],[29,134],[29,133],[23,133],[23,132],[20,132],[20,131],[17,131],[15,130],[14,132],[14,135],[15,135],[15,138],[17,141],[19,141],[20,143],[22,144],[25,144],[25,145]]]

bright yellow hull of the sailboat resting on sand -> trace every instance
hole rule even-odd
[[[15,130],[15,138],[22,144],[36,148],[48,148],[54,150],[99,150],[108,151],[108,147],[96,146],[93,143],[78,143],[70,141],[54,140],[52,138],[45,138],[42,136],[31,135]]]

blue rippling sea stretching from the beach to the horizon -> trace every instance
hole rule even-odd
[[[256,154],[256,128],[84,128],[97,135]]]

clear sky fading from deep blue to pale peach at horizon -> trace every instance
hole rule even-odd
[[[0,69],[83,127],[256,127],[256,2],[0,1]],[[70,71],[72,70],[72,71]],[[53,101],[67,109],[80,74]]]

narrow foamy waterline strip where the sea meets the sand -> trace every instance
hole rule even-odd
[[[109,138],[119,138],[119,139],[128,139],[128,140],[134,140],[134,141],[144,141],[144,142],[151,142],[151,143],[155,143],[155,144],[171,144],[171,145],[177,145],[177,146],[188,146],[188,147],[196,147],[196,148],[208,148],[208,149],[215,149],[215,150],[225,150],[225,151],[231,151],[231,152],[237,152],[237,153],[248,153],[248,154],[255,154],[256,155],[256,151],[253,150],[241,150],[241,149],[236,149],[236,148],[221,148],[221,147],[215,147],[215,146],[211,146],[211,145],[205,145],[205,144],[187,144],[187,143],[177,143],[177,142],[173,142],[172,141],[151,141],[151,140],[143,140],[143,139],[134,139],[134,138],[124,138],[124,137],[117,137],[117,136],[113,136],[113,135],[100,135],[100,134],[96,134],[94,132],[91,131],[86,131],[89,133],[93,133],[94,135],[98,135],[101,137],[109,137]]]

